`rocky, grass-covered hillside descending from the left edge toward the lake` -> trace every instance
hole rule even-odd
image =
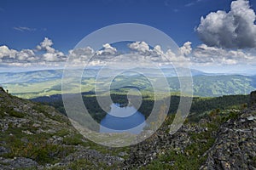
[[[6,94],[0,88],[0,169],[111,168],[122,150],[84,139],[54,108]],[[97,151],[99,150],[99,151]],[[124,149],[125,150],[125,149]]]

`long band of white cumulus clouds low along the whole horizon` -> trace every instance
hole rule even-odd
[[[139,63],[154,62],[157,65],[256,65],[256,48],[252,49],[228,49],[211,47],[201,44],[191,48],[191,42],[185,42],[179,48],[180,54],[173,53],[172,49],[165,51],[160,45],[150,47],[147,42],[132,42],[127,44],[131,49],[131,55],[119,53],[110,44],[104,44],[102,49],[95,51],[93,48],[76,48],[63,54],[53,48],[54,43],[47,37],[40,42],[36,49],[22,49],[20,51],[0,46],[0,61],[2,65],[29,66],[46,65],[61,66],[70,61],[73,66],[104,65],[115,61],[130,61]],[[135,54],[135,55],[133,55]],[[137,55],[136,55],[137,54]],[[127,57],[128,56],[128,57]],[[87,63],[90,60],[90,63]]]

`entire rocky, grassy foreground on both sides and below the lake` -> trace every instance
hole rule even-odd
[[[255,92],[250,99],[245,111],[226,110],[224,121],[205,116],[172,135],[166,123],[149,139],[122,150],[92,144],[54,108],[0,88],[0,169],[148,169],[154,161],[177,169],[177,156],[200,160],[189,169],[256,169]]]

